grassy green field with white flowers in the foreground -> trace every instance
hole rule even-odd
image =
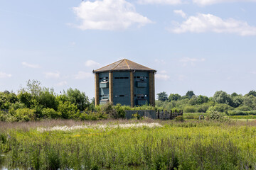
[[[256,122],[0,123],[7,169],[255,169]]]

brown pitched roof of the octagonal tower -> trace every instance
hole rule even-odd
[[[132,62],[127,59],[119,60],[105,67],[102,67],[100,69],[93,70],[93,72],[110,72],[110,71],[126,71],[126,70],[156,72],[156,70],[154,69],[150,69],[149,67],[145,67],[141,64],[137,64],[136,62]]]

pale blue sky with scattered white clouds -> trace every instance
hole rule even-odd
[[[156,69],[156,94],[256,90],[256,0],[0,1],[0,91],[94,97],[93,69]]]

